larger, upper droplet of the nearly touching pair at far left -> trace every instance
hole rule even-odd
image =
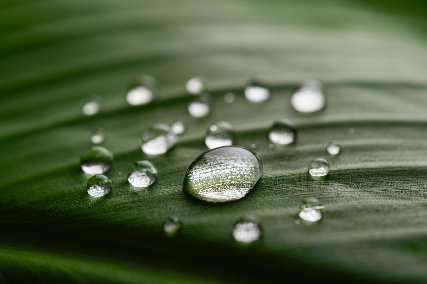
[[[90,175],[105,173],[112,164],[113,153],[102,146],[92,146],[80,157],[80,167]]]

